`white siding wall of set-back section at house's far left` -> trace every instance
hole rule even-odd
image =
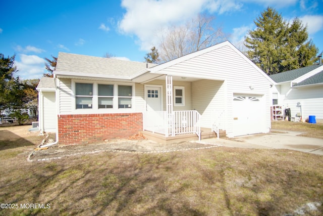
[[[42,92],[43,96],[43,131],[56,132],[57,113],[55,92]]]

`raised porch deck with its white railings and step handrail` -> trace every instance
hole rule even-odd
[[[226,137],[224,111],[214,112],[211,128],[201,127],[201,115],[196,110],[146,111],[143,113],[143,135],[158,143],[170,144],[207,138]]]

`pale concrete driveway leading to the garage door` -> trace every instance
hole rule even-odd
[[[323,155],[323,139],[297,136],[300,134],[302,132],[280,131],[279,133],[246,135],[233,139],[204,139],[201,142],[236,148],[290,149]]]

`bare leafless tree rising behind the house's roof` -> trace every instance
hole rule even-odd
[[[226,39],[220,27],[214,29],[213,16],[199,14],[185,25],[172,25],[161,34],[160,59],[170,61],[218,44]]]

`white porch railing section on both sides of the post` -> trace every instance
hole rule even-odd
[[[147,111],[143,113],[143,129],[166,137],[180,134],[196,134],[201,139],[200,114],[196,110]]]

